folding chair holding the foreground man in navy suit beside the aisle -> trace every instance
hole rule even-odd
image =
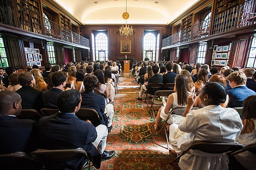
[[[86,151],[81,147],[76,149],[61,149],[61,150],[37,149],[32,153],[30,153],[30,155],[43,159],[45,161],[51,161],[51,162],[67,161],[69,159],[85,156],[88,159],[88,161],[85,162],[81,170],[83,170],[87,164],[89,164],[89,170],[90,170],[90,160],[87,156]]]

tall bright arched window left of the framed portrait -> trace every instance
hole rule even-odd
[[[105,61],[108,59],[108,37],[105,33],[99,33],[95,36],[95,54],[96,60]]]

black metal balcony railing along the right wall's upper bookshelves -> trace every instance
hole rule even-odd
[[[256,24],[256,1],[247,0],[229,8],[227,11],[210,17],[209,23],[211,24],[206,26],[202,21],[163,39],[162,48]]]

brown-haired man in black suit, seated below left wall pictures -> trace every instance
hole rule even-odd
[[[20,95],[23,109],[35,109],[40,111],[44,107],[42,102],[42,92],[33,88],[35,79],[31,72],[24,72],[19,74],[18,82],[22,87],[16,92]]]

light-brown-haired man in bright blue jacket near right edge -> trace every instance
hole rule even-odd
[[[231,90],[229,90],[230,108],[242,107],[242,102],[248,96],[255,95],[256,93],[249,88],[246,87],[245,83],[247,80],[246,75],[241,71],[236,71],[231,73],[227,80],[231,86]]]

